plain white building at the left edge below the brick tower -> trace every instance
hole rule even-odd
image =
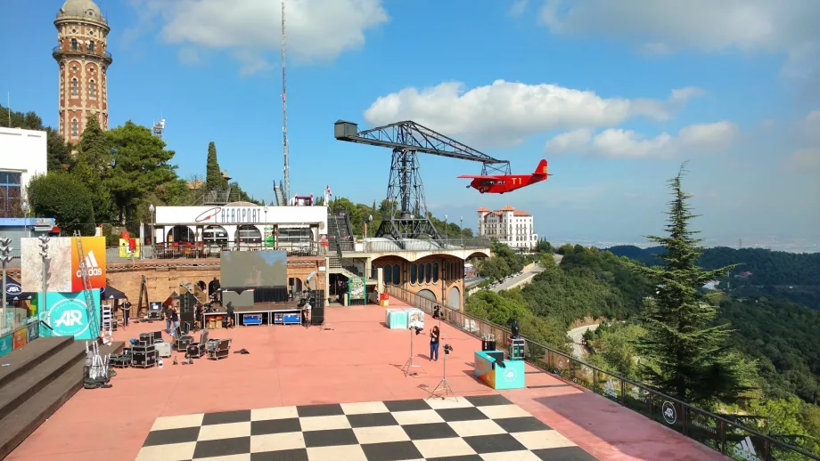
[[[19,211],[35,174],[45,174],[45,131],[0,128],[0,217]]]

